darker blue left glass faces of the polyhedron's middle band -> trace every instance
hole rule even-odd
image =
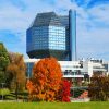
[[[41,49],[48,49],[49,44],[49,28],[48,26],[41,26],[41,27],[31,27],[27,31],[27,52],[31,50],[41,50]]]

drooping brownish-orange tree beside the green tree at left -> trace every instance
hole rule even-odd
[[[11,62],[7,68],[9,88],[15,90],[17,87],[19,90],[23,90],[26,81],[26,65],[23,55],[10,52],[9,57]]]

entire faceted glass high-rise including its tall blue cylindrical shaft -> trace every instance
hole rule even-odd
[[[68,16],[55,12],[38,13],[26,32],[26,52],[29,58],[55,57],[72,61],[76,56],[75,14]],[[74,56],[75,55],[75,56]]]

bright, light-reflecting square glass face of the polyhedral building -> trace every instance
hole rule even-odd
[[[49,49],[65,50],[65,27],[49,26]]]

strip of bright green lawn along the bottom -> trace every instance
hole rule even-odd
[[[109,109],[109,102],[0,102],[0,109]]]

